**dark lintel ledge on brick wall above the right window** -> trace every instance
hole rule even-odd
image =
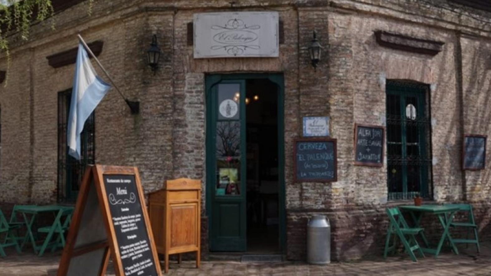
[[[377,43],[383,47],[428,55],[438,54],[445,44],[382,30],[375,31],[375,38]]]

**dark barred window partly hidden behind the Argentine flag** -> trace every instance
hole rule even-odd
[[[68,154],[67,122],[72,89],[58,93],[58,202],[75,202],[87,165],[95,163],[95,115],[90,114],[81,134],[81,160]]]

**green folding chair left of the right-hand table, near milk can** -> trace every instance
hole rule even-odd
[[[404,220],[401,211],[397,207],[386,208],[385,211],[387,212],[387,216],[389,217],[389,226],[387,227],[387,237],[385,239],[385,249],[383,251],[383,258],[384,259],[387,258],[388,251],[391,251],[392,254],[395,254],[398,237],[401,240],[402,244],[404,245],[404,250],[406,251],[406,253],[409,254],[409,257],[411,257],[411,260],[413,262],[417,262],[416,256],[414,255],[415,250],[418,251],[418,253],[422,257],[424,257],[425,254],[419,247],[418,242],[414,237],[415,235],[419,234],[419,232],[422,232],[424,228],[409,227],[408,224],[406,223],[406,220]],[[393,235],[392,246],[389,246],[390,237],[392,235]],[[408,238],[406,238],[406,236],[408,236]]]

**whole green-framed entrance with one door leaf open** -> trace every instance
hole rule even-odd
[[[206,76],[212,252],[285,251],[283,92],[280,74]]]

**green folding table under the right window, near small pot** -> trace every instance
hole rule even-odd
[[[450,225],[452,224],[452,220],[454,219],[454,214],[455,212],[460,210],[459,207],[436,205],[436,204],[435,205],[428,204],[428,205],[421,205],[421,206],[403,205],[398,207],[401,211],[408,211],[410,213],[411,218],[414,221],[414,227],[420,227],[419,223],[421,221],[421,217],[423,216],[423,214],[436,215],[438,221],[443,227],[443,232],[441,233],[441,237],[438,242],[438,246],[436,248],[430,248],[428,239],[426,238],[424,231],[419,233],[421,235],[421,238],[423,239],[423,242],[425,243],[425,247],[421,247],[421,250],[423,250],[423,252],[434,254],[435,257],[437,257],[441,251],[441,247],[443,246],[445,239],[448,239],[448,242],[450,243],[452,250],[456,254],[459,254],[459,251],[457,250],[457,247],[455,246],[449,232]],[[428,231],[428,228],[425,228],[425,230]]]

